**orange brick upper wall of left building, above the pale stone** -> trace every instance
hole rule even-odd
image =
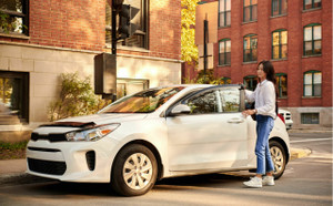
[[[181,1],[149,2],[149,50],[118,52],[180,60]],[[105,0],[30,0],[29,21],[29,39],[0,37],[0,41],[90,51],[105,49]]]

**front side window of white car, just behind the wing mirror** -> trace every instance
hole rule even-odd
[[[190,97],[186,101],[191,109],[190,114],[209,114],[221,112],[216,97],[216,91],[208,91]],[[221,107],[221,106],[220,106]]]

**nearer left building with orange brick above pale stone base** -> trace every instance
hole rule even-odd
[[[118,45],[118,94],[181,82],[181,1],[124,0],[140,9],[134,35]],[[31,127],[47,121],[59,76],[91,76],[111,51],[111,0],[0,1],[0,102]],[[3,22],[0,22],[3,23]],[[1,24],[2,25],[2,24]]]

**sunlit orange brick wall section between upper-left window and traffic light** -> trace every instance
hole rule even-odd
[[[104,0],[30,1],[29,43],[102,51],[104,20]]]

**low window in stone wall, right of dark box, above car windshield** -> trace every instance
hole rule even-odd
[[[149,87],[148,80],[140,79],[117,79],[117,97],[134,94]]]

